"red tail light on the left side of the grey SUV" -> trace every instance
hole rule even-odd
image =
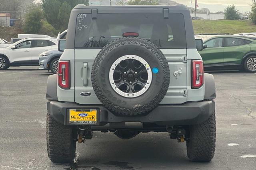
[[[58,63],[58,85],[62,89],[70,89],[69,67],[69,61],[59,61]]]

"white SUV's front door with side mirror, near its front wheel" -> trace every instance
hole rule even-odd
[[[26,40],[9,50],[10,62],[16,65],[29,64],[31,62],[32,40]]]

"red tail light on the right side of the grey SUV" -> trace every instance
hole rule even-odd
[[[192,88],[198,89],[204,84],[204,66],[203,61],[192,61]]]

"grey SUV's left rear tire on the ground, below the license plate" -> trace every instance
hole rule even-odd
[[[46,142],[50,160],[54,163],[72,162],[76,154],[76,140],[72,128],[56,122],[47,112]]]

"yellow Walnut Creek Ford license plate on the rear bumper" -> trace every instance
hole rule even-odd
[[[96,124],[97,110],[82,110],[82,109],[71,110],[70,109],[69,123],[70,124]]]

